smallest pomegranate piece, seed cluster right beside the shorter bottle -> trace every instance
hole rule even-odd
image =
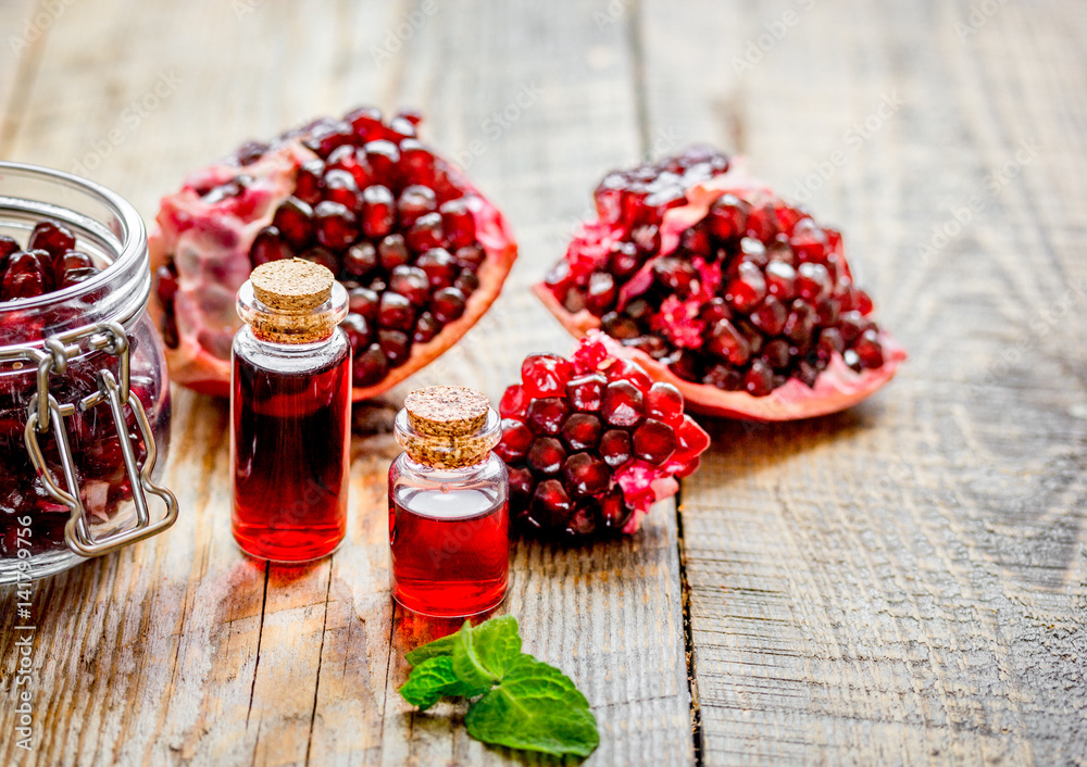
[[[676,387],[653,384],[600,332],[571,359],[532,354],[502,395],[510,508],[525,531],[561,538],[634,532],[674,477],[698,467],[709,436]],[[646,417],[646,413],[650,417]]]

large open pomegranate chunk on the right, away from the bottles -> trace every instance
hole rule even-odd
[[[534,287],[580,338],[601,329],[690,411],[792,420],[850,407],[905,352],[871,318],[841,235],[696,147],[608,174]]]

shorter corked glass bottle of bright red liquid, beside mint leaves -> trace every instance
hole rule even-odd
[[[509,474],[491,453],[501,419],[487,398],[438,386],[408,395],[389,467],[392,595],[415,613],[461,617],[505,599]]]

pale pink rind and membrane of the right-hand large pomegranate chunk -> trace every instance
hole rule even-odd
[[[773,203],[779,199],[766,184],[747,173],[741,160],[734,159],[725,173],[708,181],[692,185],[686,192],[687,204],[665,212],[661,224],[660,253],[653,259],[672,253],[678,247],[682,234],[702,221],[713,202],[724,193],[736,194],[753,204]],[[596,226],[598,224],[592,222],[586,224],[585,228],[588,230],[589,227]],[[632,281],[636,279],[637,275],[632,277]],[[600,318],[588,310],[566,311],[546,282],[534,285],[533,292],[574,338],[584,338],[590,331],[600,328]],[[622,300],[624,298],[622,290],[620,296]],[[884,364],[878,368],[858,373],[846,364],[840,354],[835,353],[826,369],[815,379],[814,388],[790,378],[766,397],[752,397],[746,391],[724,391],[708,384],[684,380],[667,365],[638,349],[615,343],[614,353],[637,362],[654,380],[672,384],[679,389],[686,400],[687,410],[694,413],[741,420],[786,422],[841,412],[886,386],[895,377],[898,366],[907,359],[907,353],[886,330],[879,331],[879,342],[883,345]]]

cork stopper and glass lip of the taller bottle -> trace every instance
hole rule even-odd
[[[304,259],[261,264],[238,291],[238,315],[275,343],[312,343],[347,316],[347,291],[326,267]]]

